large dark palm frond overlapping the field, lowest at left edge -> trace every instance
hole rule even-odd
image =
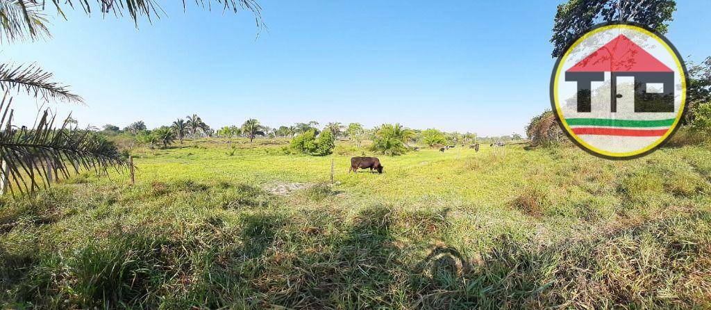
[[[48,187],[49,178],[65,178],[82,167],[99,172],[128,166],[112,142],[72,128],[68,120],[55,127],[55,116],[48,110],[32,128],[14,126],[11,102],[6,92],[0,101],[0,160],[8,167],[11,193]]]

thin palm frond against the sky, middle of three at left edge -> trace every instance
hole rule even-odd
[[[66,102],[83,102],[82,97],[70,92],[66,86],[53,82],[52,73],[42,70],[34,63],[18,66],[0,63],[0,90],[27,92],[28,95],[43,100],[52,98]]]

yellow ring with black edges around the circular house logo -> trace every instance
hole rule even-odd
[[[667,52],[670,53],[671,55],[673,55],[674,61],[676,63],[677,69],[678,69],[677,74],[680,75],[680,80],[681,80],[681,103],[679,105],[679,112],[677,113],[677,115],[674,119],[674,123],[671,125],[671,127],[669,127],[667,132],[662,137],[660,137],[659,139],[654,141],[649,146],[646,146],[644,149],[638,149],[636,151],[629,151],[629,152],[624,152],[624,153],[616,153],[616,152],[598,149],[590,144],[587,144],[585,141],[583,141],[582,139],[577,137],[577,135],[574,134],[574,132],[572,132],[572,129],[570,128],[568,123],[565,121],[565,117],[562,116],[562,111],[560,109],[560,100],[558,100],[558,91],[557,91],[558,90],[558,80],[560,77],[560,70],[562,70],[562,67],[563,67],[562,65],[567,61],[567,58],[570,55],[570,53],[572,52],[572,50],[575,47],[577,47],[580,43],[582,43],[582,41],[584,41],[585,39],[594,35],[595,33],[599,33],[601,31],[606,31],[611,28],[627,28],[632,31],[638,31],[638,32],[646,34],[647,36],[649,36],[651,38],[654,38],[656,41],[661,43],[661,45],[664,46],[664,48],[667,50]],[[681,117],[684,114],[684,110],[685,110],[685,106],[686,106],[686,74],[685,74],[686,71],[684,70],[684,66],[680,62],[679,58],[680,58],[680,56],[678,55],[678,53],[675,52],[675,50],[673,48],[671,48],[665,40],[660,38],[656,33],[648,31],[647,29],[642,28],[640,26],[619,23],[619,24],[611,24],[611,25],[600,26],[598,28],[594,28],[592,31],[588,31],[583,36],[578,38],[577,41],[575,41],[569,48],[567,48],[567,50],[565,50],[565,54],[562,55],[562,57],[560,58],[560,60],[558,60],[558,62],[556,64],[555,77],[553,80],[553,88],[552,88],[552,92],[553,92],[552,97],[555,102],[555,114],[557,114],[558,119],[560,119],[560,123],[565,128],[565,131],[568,133],[568,136],[572,137],[572,139],[575,139],[575,141],[577,141],[577,143],[580,146],[583,146],[584,148],[586,148],[589,151],[592,151],[594,153],[597,153],[597,154],[600,154],[603,156],[607,156],[607,157],[624,159],[624,158],[630,158],[630,157],[638,156],[641,154],[645,154],[648,151],[652,151],[654,148],[656,148],[657,146],[662,144],[670,136],[670,134],[672,134],[675,131],[676,127],[678,126],[678,124],[681,120]]]

